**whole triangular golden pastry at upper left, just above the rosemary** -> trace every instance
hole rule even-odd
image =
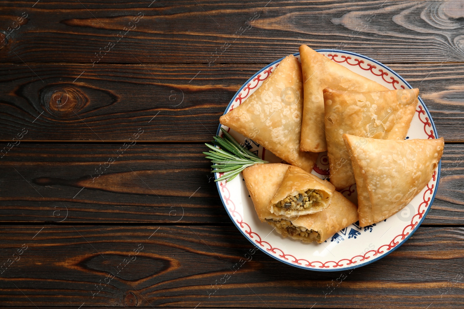
[[[300,151],[303,77],[290,55],[240,106],[221,116],[221,124],[253,139],[277,157],[311,171],[317,154]]]

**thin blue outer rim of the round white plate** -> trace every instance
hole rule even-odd
[[[361,54],[357,54],[357,53],[354,53],[352,51],[346,51],[346,50],[330,50],[330,49],[322,49],[322,50],[316,50],[317,52],[341,52],[341,53],[346,53],[346,54],[349,54],[349,55],[353,55],[353,56],[358,56],[358,57],[361,57],[361,58],[365,58],[365,59],[368,59],[369,61],[372,61],[373,63],[376,63],[384,68],[387,68],[390,72],[392,72],[396,77],[398,77],[398,79],[401,80],[401,82],[404,82],[409,88],[412,88],[411,85],[406,82],[403,77],[401,77],[398,73],[396,73],[393,69],[390,69],[388,66],[386,66],[385,64],[383,63],[380,63],[378,62],[377,60],[374,60],[370,57],[367,57],[367,56],[363,56]],[[293,56],[299,56],[300,53],[297,52],[297,53],[294,53]],[[243,85],[242,87],[240,87],[240,89],[238,89],[238,91],[235,93],[235,95],[233,95],[232,97],[232,100],[229,102],[229,104],[227,105],[226,107],[226,110],[224,111],[224,114],[226,114],[226,111],[229,109],[229,107],[232,105],[233,103],[233,100],[234,98],[236,97],[236,95],[242,91],[242,89],[249,83],[253,80],[253,78],[255,78],[256,76],[258,76],[258,74],[263,71],[264,69],[268,69],[269,67],[271,67],[272,65],[282,61],[285,57],[282,57],[268,65],[266,65],[264,68],[262,69],[259,69],[258,72],[256,72],[253,76],[251,76]],[[419,96],[419,101],[420,103],[422,103],[422,106],[424,107],[424,110],[425,110],[425,113],[427,113],[427,116],[429,117],[429,120],[432,124],[432,128],[433,128],[433,132],[436,136],[436,138],[438,139],[438,132],[437,132],[437,128],[435,127],[435,123],[433,122],[432,120],[432,115],[429,113],[429,110],[427,109],[427,107],[425,106],[425,103],[424,101],[422,101],[422,99],[420,98]],[[219,135],[219,131],[220,131],[220,128],[221,128],[221,124],[219,124],[218,126],[218,130],[216,131],[216,135]],[[398,245],[396,245],[395,247],[393,247],[393,249],[389,250],[388,252],[386,252],[385,254],[382,254],[381,256],[375,258],[375,259],[372,259],[368,262],[365,262],[365,263],[361,263],[361,264],[358,264],[358,265],[353,265],[353,266],[349,266],[349,267],[343,267],[343,268],[340,268],[340,269],[336,269],[336,268],[333,268],[333,269],[317,269],[317,268],[311,268],[311,267],[305,267],[305,266],[302,266],[302,265],[296,265],[296,264],[293,264],[293,263],[290,263],[290,262],[286,262],[286,261],[283,261],[281,259],[278,259],[277,257],[273,256],[271,253],[269,252],[266,252],[264,250],[264,248],[260,248],[259,246],[257,246],[253,240],[251,240],[250,238],[248,238],[248,236],[246,236],[246,234],[240,229],[240,227],[238,227],[238,224],[237,222],[234,220],[234,218],[232,218],[231,214],[229,213],[229,211],[227,210],[227,207],[226,207],[226,203],[224,202],[224,199],[222,198],[222,195],[221,195],[221,191],[219,189],[219,183],[216,182],[216,188],[218,189],[218,193],[219,193],[219,197],[221,199],[221,202],[222,202],[222,205],[224,206],[224,208],[226,209],[226,213],[229,215],[229,218],[231,219],[231,221],[233,222],[233,224],[235,225],[235,227],[237,227],[238,231],[240,231],[240,233],[243,234],[243,236],[245,236],[245,238],[251,242],[251,244],[253,244],[253,246],[257,247],[259,250],[261,250],[262,252],[264,252],[265,254],[269,255],[271,258],[273,259],[276,259],[277,261],[279,262],[282,262],[284,264],[287,264],[287,265],[290,265],[290,266],[293,266],[293,267],[297,267],[297,268],[300,268],[300,269],[304,269],[304,270],[308,270],[308,271],[346,271],[346,270],[350,270],[350,269],[354,269],[354,268],[358,268],[358,267],[361,267],[361,266],[365,266],[365,265],[368,265],[368,264],[371,264],[371,263],[374,263],[375,261],[379,260],[379,259],[382,259],[384,257],[386,257],[388,254],[392,253],[393,251],[395,251],[396,249],[398,249],[401,245],[403,245],[406,240],[408,240],[412,234],[414,234],[416,232],[417,229],[419,229],[420,225],[422,224],[422,222],[424,221],[425,217],[427,216],[429,210],[432,208],[432,203],[433,201],[435,200],[435,195],[437,194],[437,191],[438,191],[438,183],[440,181],[440,171],[441,171],[441,160],[440,162],[438,163],[438,173],[437,173],[437,183],[436,183],[436,187],[435,187],[435,191],[433,192],[433,195],[432,195],[432,199],[429,203],[429,206],[427,207],[427,209],[425,210],[425,213],[424,215],[422,216],[422,219],[418,222],[418,224],[416,225],[416,227],[409,233],[409,235],[407,235],[405,237],[404,240],[401,240],[399,242]],[[217,173],[214,173],[214,178],[217,179]]]

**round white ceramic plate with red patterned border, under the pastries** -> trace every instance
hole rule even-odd
[[[389,89],[412,88],[401,76],[387,66],[371,58],[342,50],[317,50],[340,63],[344,67],[365,76]],[[300,60],[300,54],[294,54]],[[283,59],[283,58],[282,58]],[[254,76],[233,96],[224,114],[237,107],[261,86],[282,59],[279,59]],[[231,135],[239,143],[271,163],[281,162],[262,146],[254,143],[230,128]],[[219,126],[220,128],[220,126]],[[218,128],[218,135],[221,135]],[[221,133],[221,134],[219,134]],[[419,104],[412,119],[406,139],[435,139],[437,131],[424,102]],[[441,163],[433,172],[433,177],[425,188],[397,214],[387,220],[368,227],[360,227],[357,222],[335,233],[322,244],[306,244],[298,240],[283,238],[267,223],[258,219],[242,175],[231,182],[217,182],[219,195],[233,223],[243,235],[261,251],[285,264],[314,271],[341,271],[360,267],[383,258],[401,246],[424,221],[437,192]],[[320,153],[313,174],[326,178],[329,175],[329,161],[326,153]],[[216,173],[216,178],[222,173]],[[350,200],[356,200],[356,185],[341,191]]]

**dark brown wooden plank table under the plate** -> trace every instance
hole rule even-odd
[[[151,1],[0,2],[0,305],[463,308],[462,0]],[[203,144],[243,82],[301,44],[420,88],[446,141],[438,194],[345,280],[257,252],[208,296],[252,245]]]

